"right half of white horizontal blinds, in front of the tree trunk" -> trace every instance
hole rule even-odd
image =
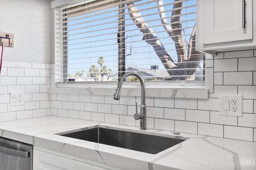
[[[141,0],[126,6],[126,71],[144,80],[204,80],[203,54],[195,51],[195,0]]]

